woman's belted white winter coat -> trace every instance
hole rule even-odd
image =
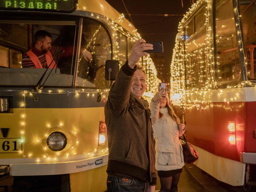
[[[168,114],[167,108],[160,108],[159,102],[151,100],[151,121],[154,138],[156,141],[155,168],[158,171],[169,171],[181,169],[184,166],[182,146],[179,142],[185,130],[179,130],[176,121]],[[159,117],[159,111],[163,117]]]

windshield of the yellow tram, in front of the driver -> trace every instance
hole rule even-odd
[[[72,86],[78,63],[76,86],[107,87],[105,62],[111,59],[107,30],[98,22],[84,20],[78,49],[77,29],[78,21],[0,21],[0,85],[36,86],[46,69],[36,67],[26,53],[33,50],[34,34],[45,30],[52,36],[50,52],[57,69],[44,86]]]

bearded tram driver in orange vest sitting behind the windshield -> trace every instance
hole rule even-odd
[[[49,68],[56,68],[55,55],[59,52],[51,50],[52,35],[45,30],[39,30],[35,33],[34,40],[35,43],[32,48],[24,54],[22,67],[42,69],[50,65]]]

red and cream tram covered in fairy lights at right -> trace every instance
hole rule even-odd
[[[256,179],[256,2],[198,0],[179,24],[171,97],[197,166],[233,186]]]

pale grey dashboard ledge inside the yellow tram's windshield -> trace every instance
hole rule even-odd
[[[30,68],[0,68],[0,82],[5,86],[33,86],[37,84],[46,69],[30,69]],[[73,75],[61,74],[60,69],[51,69],[47,71],[45,78],[49,78],[45,82],[45,86],[71,86]],[[55,73],[56,70],[56,73]],[[45,79],[44,78],[44,79]],[[95,87],[95,84],[77,77],[77,82],[83,84],[85,87]]]

